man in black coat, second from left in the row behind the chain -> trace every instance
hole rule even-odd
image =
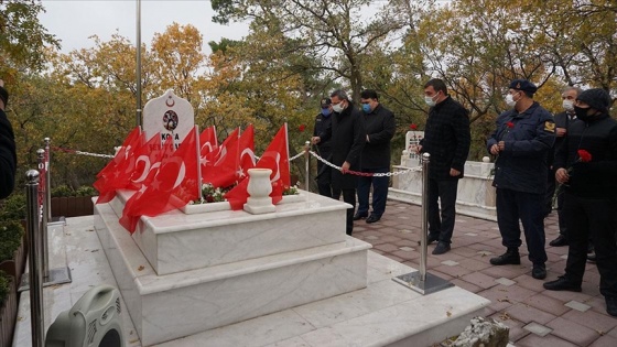
[[[347,235],[354,230],[354,209],[356,208],[357,177],[349,174],[349,170],[358,171],[360,153],[366,141],[365,122],[361,112],[354,106],[347,93],[335,90],[331,94],[332,116],[331,126],[318,137],[313,137],[313,144],[331,140],[332,163],[340,170],[332,170],[333,198],[338,199],[343,193],[343,200],[347,208]]]

